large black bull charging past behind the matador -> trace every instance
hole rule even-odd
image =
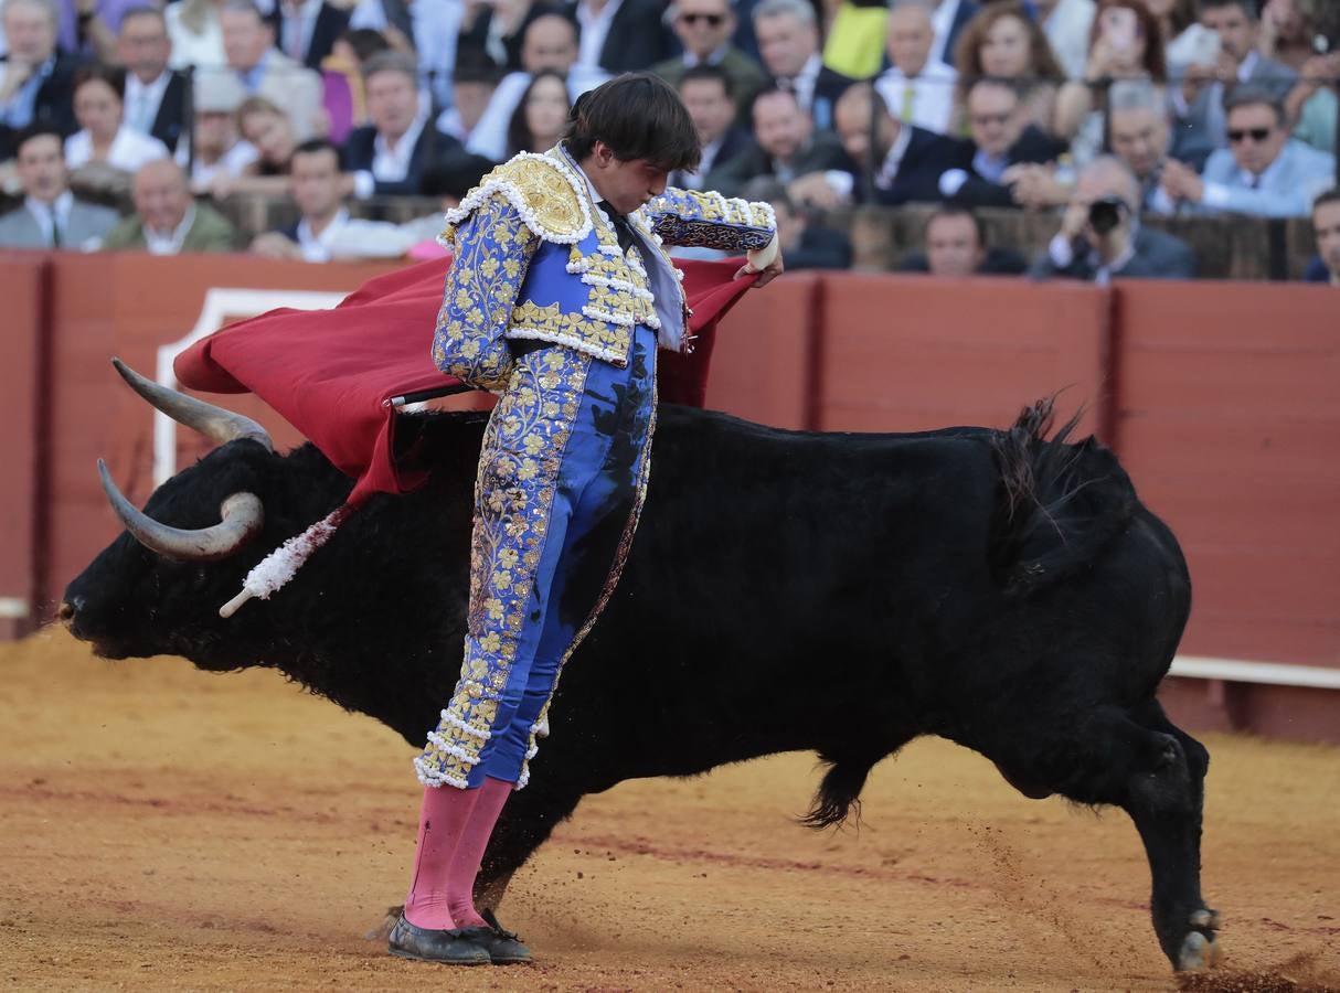
[[[1116,458],[1065,429],[1044,441],[1048,421],[1041,405],[1010,432],[807,434],[662,407],[627,570],[559,682],[531,784],[485,856],[481,906],[584,795],[622,780],[812,750],[828,769],[807,820],[828,825],[871,767],[938,734],[1026,796],[1127,811],[1163,951],[1177,969],[1211,965],[1209,756],[1155,700],[1190,608],[1186,564]],[[374,499],[269,600],[217,614],[350,481],[310,445],[277,456],[241,440],[146,511],[204,528],[249,490],[259,536],[200,563],[123,533],[70,584],[63,618],[107,657],[279,669],[421,746],[461,663],[484,418],[415,422],[430,484]]]

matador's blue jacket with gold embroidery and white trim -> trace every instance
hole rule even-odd
[[[433,338],[437,367],[500,390],[512,371],[507,339],[553,342],[623,366],[636,324],[682,350],[683,276],[662,243],[742,252],[776,233],[766,204],[681,189],[628,220],[642,245],[624,253],[563,147],[524,151],[493,169],[446,214],[440,240],[456,260]]]

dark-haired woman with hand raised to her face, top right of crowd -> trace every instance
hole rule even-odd
[[[1162,98],[1167,86],[1163,35],[1144,0],[1101,0],[1089,32],[1083,79],[1067,82],[1056,98],[1053,133],[1071,139],[1077,166],[1103,149],[1103,102],[1118,79],[1147,79]]]

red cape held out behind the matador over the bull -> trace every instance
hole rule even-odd
[[[742,259],[679,263],[693,310],[691,355],[662,351],[662,401],[702,406],[716,324],[753,285],[733,279]],[[280,308],[230,324],[177,356],[177,381],[205,393],[255,393],[358,480],[348,503],[401,493],[423,473],[394,461],[395,409],[385,401],[452,385],[430,347],[449,259],[397,269],[364,283],[328,311]]]

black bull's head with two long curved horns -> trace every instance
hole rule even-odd
[[[114,359],[141,397],[218,448],[149,499],[145,512],[117,489],[99,460],[103,489],[126,525],[66,590],[59,616],[102,655],[184,654],[209,669],[253,665],[245,638],[221,638],[218,603],[272,545],[269,496],[281,508],[283,458],[251,418],[165,389]],[[336,500],[338,501],[338,500]],[[281,511],[281,516],[283,511]],[[261,619],[257,618],[257,622]],[[222,650],[228,645],[228,650]]]

